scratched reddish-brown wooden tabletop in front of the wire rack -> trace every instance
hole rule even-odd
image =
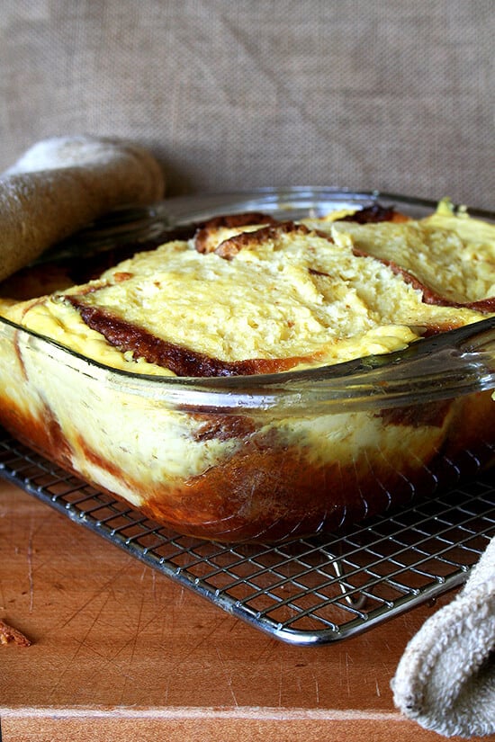
[[[31,640],[0,644],[1,739],[433,742],[390,681],[451,598],[293,647],[0,479],[0,621]]]

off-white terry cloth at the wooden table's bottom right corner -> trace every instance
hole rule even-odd
[[[495,538],[464,589],[410,640],[392,691],[397,707],[446,737],[495,733]]]

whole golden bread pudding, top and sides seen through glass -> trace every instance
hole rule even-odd
[[[222,541],[335,530],[490,465],[483,353],[432,340],[495,315],[495,226],[361,207],[215,215],[49,295],[6,282],[0,419]]]

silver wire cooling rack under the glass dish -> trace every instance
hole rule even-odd
[[[348,638],[461,585],[495,535],[493,470],[345,535],[275,546],[169,532],[3,429],[0,476],[221,609],[299,645]]]

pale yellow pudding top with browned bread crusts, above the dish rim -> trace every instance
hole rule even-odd
[[[436,219],[216,220],[199,241],[196,234],[140,252],[93,282],[4,314],[144,373],[271,373],[389,353],[495,312],[495,227],[485,233],[452,217],[440,228]],[[411,234],[416,247],[421,236],[421,255],[410,256]]]

